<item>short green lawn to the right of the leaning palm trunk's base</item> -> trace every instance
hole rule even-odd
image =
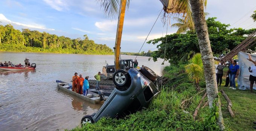
[[[249,90],[233,90],[227,87],[223,89],[232,102],[232,111],[235,118],[230,116],[227,110],[227,101],[221,96],[221,111],[226,128],[232,131],[255,131],[253,121],[256,121],[256,94],[251,94]],[[255,92],[255,91],[254,91]]]

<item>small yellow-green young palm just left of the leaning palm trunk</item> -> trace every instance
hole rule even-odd
[[[185,66],[186,73],[193,82],[195,82],[195,87],[197,91],[200,91],[199,82],[204,79],[203,62],[201,59],[201,54],[197,53],[192,59],[189,60],[188,65]]]

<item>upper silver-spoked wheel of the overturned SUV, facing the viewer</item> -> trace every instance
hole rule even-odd
[[[124,70],[117,70],[113,75],[113,82],[116,86],[123,87],[128,83],[128,73]]]

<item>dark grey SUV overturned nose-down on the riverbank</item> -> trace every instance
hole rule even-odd
[[[159,93],[157,74],[150,68],[118,70],[113,75],[117,86],[97,113],[86,115],[81,125],[94,123],[102,117],[122,118],[148,107],[150,100]]]

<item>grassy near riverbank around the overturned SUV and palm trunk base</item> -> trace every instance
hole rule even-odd
[[[169,66],[165,68],[165,76],[170,82],[164,86],[160,95],[152,101],[148,109],[129,115],[124,119],[102,118],[95,124],[84,127],[76,127],[71,131],[137,131],[137,130],[181,130],[181,131],[210,131],[219,130],[214,121],[211,121],[209,107],[200,108],[196,120],[193,113],[204,94],[197,94],[194,84],[188,80],[184,73],[184,67]],[[222,83],[222,85],[225,82]],[[201,91],[206,89],[205,83],[200,82]],[[227,87],[223,89],[232,101],[232,110],[235,118],[232,118],[227,110],[227,101],[221,95],[221,108],[224,118],[225,130],[253,131],[253,121],[256,120],[256,95],[249,91],[232,90]],[[192,99],[183,107],[181,102],[188,98]],[[207,102],[203,100],[201,107]]]

